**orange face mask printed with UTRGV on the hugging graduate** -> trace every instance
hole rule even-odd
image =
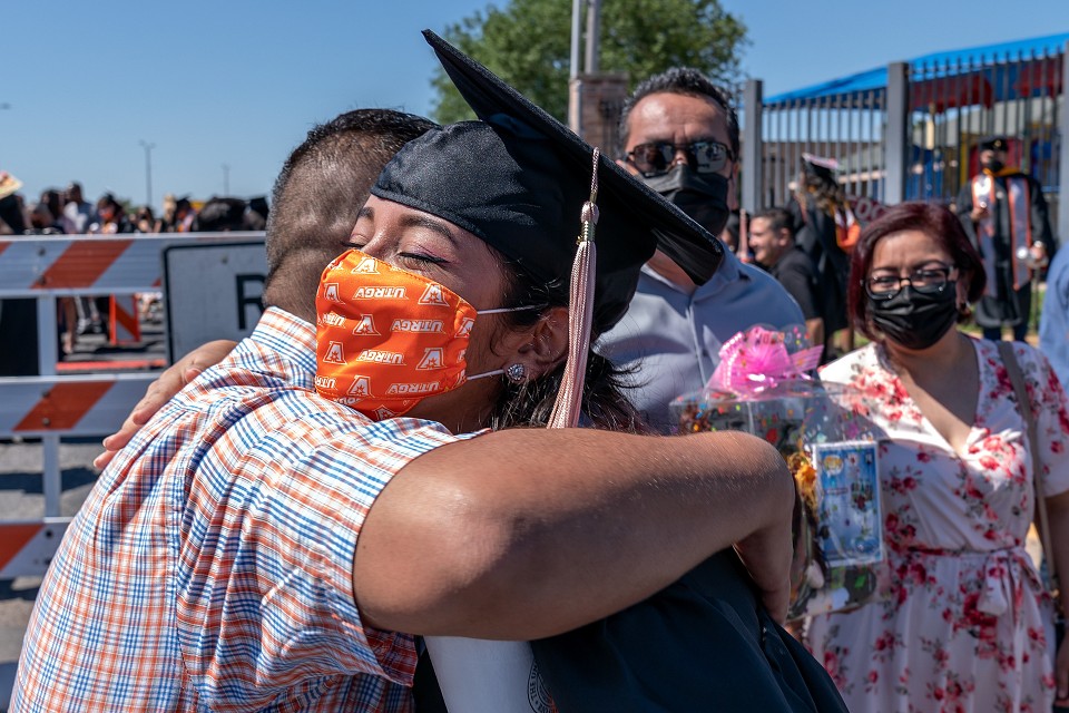
[[[373,420],[402,416],[469,379],[477,311],[448,287],[359,250],[336,257],[315,297],[315,390]]]

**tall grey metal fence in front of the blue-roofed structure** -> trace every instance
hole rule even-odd
[[[1066,61],[1065,46],[954,52],[768,101],[759,80],[751,80],[743,98],[743,207],[785,205],[803,153],[834,158],[847,194],[951,203],[979,170],[977,141],[1002,134],[1012,139],[1010,163],[1040,182],[1058,222],[1067,191],[1061,166],[1069,164]]]

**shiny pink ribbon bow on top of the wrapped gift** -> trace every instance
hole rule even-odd
[[[724,389],[754,395],[786,380],[810,379],[806,373],[821,362],[823,346],[787,351],[783,332],[752,326],[720,346],[720,363],[707,389]]]

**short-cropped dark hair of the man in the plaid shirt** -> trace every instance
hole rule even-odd
[[[323,267],[344,250],[383,166],[437,127],[392,109],[356,109],[314,127],[283,164],[267,216],[264,303],[310,321]]]

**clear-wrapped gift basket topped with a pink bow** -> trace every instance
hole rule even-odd
[[[705,389],[670,403],[680,433],[746,431],[776,447],[800,495],[788,619],[854,608],[876,593],[883,521],[876,445],[812,377],[822,348],[801,328],[755,326],[728,340]]]

